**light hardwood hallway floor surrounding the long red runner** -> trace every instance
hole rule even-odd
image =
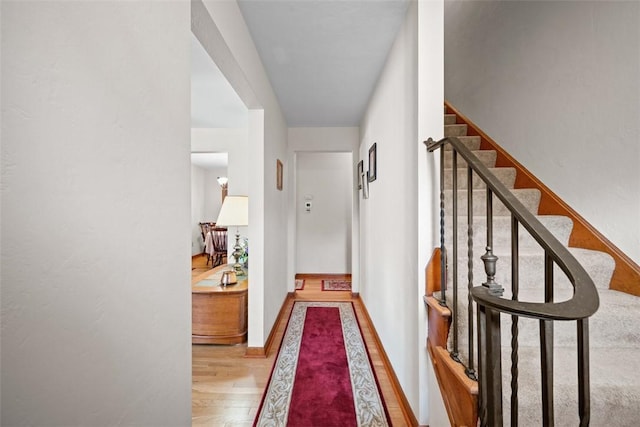
[[[375,331],[361,300],[353,298],[349,291],[322,291],[321,284],[320,277],[306,279],[304,289],[296,291],[293,298],[286,300],[283,315],[276,322],[273,347],[267,358],[244,357],[246,344],[193,345],[194,426],[252,426],[295,300],[353,301],[391,422],[394,426],[413,424],[410,419],[405,419],[394,392],[392,374],[385,368],[381,349],[376,344]]]

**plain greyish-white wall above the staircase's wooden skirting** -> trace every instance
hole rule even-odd
[[[445,95],[640,262],[640,3],[447,1]]]

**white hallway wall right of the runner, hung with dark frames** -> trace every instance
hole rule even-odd
[[[360,127],[360,156],[377,142],[377,180],[360,199],[360,295],[414,413],[419,407],[418,18],[407,11]],[[365,169],[368,169],[365,160]],[[422,285],[420,285],[422,286]]]

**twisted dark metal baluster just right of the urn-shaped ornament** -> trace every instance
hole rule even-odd
[[[518,300],[519,292],[519,224],[511,215],[511,299]],[[518,316],[511,316],[511,427],[518,425]]]

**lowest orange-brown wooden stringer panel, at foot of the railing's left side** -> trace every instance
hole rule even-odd
[[[451,358],[442,347],[427,339],[440,393],[447,409],[449,422],[456,427],[478,425],[478,383],[464,372],[464,366]]]

